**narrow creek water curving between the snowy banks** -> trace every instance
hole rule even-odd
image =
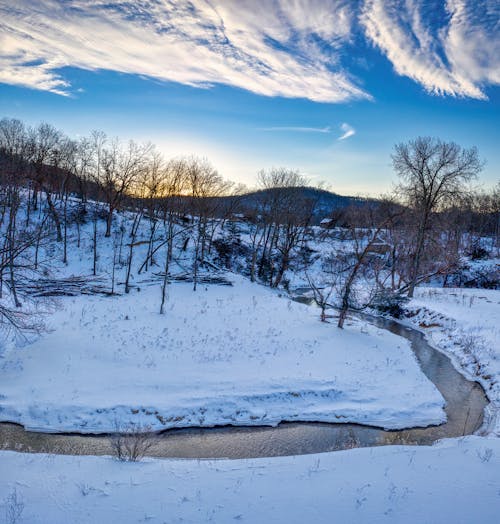
[[[270,427],[173,429],[158,435],[148,455],[179,458],[250,458],[302,455],[352,447],[390,444],[426,445],[445,438],[474,433],[482,424],[488,401],[481,386],[466,380],[450,359],[427,344],[422,333],[379,317],[369,322],[407,338],[422,371],[446,400],[447,422],[440,426],[385,431],[359,424],[311,422]],[[390,387],[390,384],[388,384]],[[0,424],[0,449],[71,455],[112,454],[106,435],[46,434],[22,426]]]

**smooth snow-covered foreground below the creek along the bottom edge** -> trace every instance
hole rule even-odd
[[[30,524],[493,524],[500,510],[500,439],[480,437],[252,460],[4,451],[0,467],[2,522],[15,507]]]

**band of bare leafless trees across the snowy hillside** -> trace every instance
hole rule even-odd
[[[225,180],[205,159],[165,159],[151,143],[122,142],[101,131],[73,140],[47,123],[27,126],[3,118],[0,318],[15,327],[27,325],[19,283],[40,270],[41,246],[59,243],[62,262],[68,263],[68,230],[76,230],[80,247],[81,227],[88,223],[93,274],[103,235],[113,241],[111,292],[116,260],[124,260],[126,293],[133,267],[139,273],[155,267],[163,278],[161,313],[174,244],[184,252],[190,246],[195,290],[200,269],[213,264],[214,254],[231,265],[238,250],[252,281],[277,288],[287,286],[292,266],[307,274],[314,258],[308,241],[319,235],[333,245],[340,234],[346,242],[335,244],[324,264],[330,284],[316,285],[308,276],[323,316],[335,287],[340,327],[356,302],[353,293],[361,278],[375,283],[373,296],[382,290],[412,296],[422,280],[452,275],[465,250],[481,256],[485,237],[498,251],[500,185],[487,192],[472,189],[483,165],[475,148],[419,137],[397,144],[392,161],[399,183],[391,195],[332,210],[330,224],[341,227],[318,233],[311,227],[317,200],[304,191],[309,181],[298,171],[261,171],[260,191],[251,206],[243,207],[244,188]],[[127,230],[114,231],[114,217],[122,210],[128,213]],[[231,234],[235,219],[248,225],[244,246]],[[146,249],[136,260],[138,246]]]

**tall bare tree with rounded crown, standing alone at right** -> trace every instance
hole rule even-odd
[[[476,148],[463,149],[454,142],[431,137],[397,144],[392,163],[400,178],[398,191],[415,213],[417,234],[408,286],[408,296],[412,297],[432,213],[466,191],[482,163]]]

